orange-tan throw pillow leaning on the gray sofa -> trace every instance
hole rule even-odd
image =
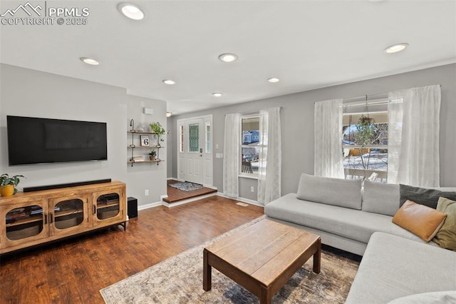
[[[447,215],[413,201],[406,201],[393,217],[393,223],[429,242],[437,234]]]

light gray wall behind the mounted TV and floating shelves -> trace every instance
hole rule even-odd
[[[139,205],[157,203],[166,194],[167,161],[133,168],[126,163],[130,119],[147,124],[160,121],[166,128],[165,101],[130,96],[125,88],[6,64],[0,65],[0,86],[0,173],[26,176],[19,188],[111,178],[125,182],[127,196],[138,198]],[[153,108],[154,114],[142,114],[144,106]],[[10,167],[7,115],[106,122],[108,161]],[[163,150],[160,153],[165,156],[166,148]],[[144,196],[145,189],[149,196]]]

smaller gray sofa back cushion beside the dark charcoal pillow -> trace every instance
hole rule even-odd
[[[394,216],[398,209],[398,184],[364,181],[363,211]]]

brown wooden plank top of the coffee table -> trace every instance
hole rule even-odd
[[[319,238],[265,218],[205,249],[269,286]]]

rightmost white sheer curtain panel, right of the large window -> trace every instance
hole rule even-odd
[[[388,183],[440,186],[440,86],[388,95]]]

